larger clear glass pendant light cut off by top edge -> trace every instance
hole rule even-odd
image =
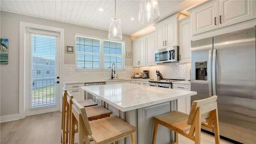
[[[153,24],[160,20],[158,0],[140,0],[139,22]]]

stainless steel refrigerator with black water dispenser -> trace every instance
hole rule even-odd
[[[256,28],[191,42],[191,102],[217,95],[220,135],[256,143]]]

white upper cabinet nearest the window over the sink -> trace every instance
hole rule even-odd
[[[132,41],[133,46],[133,66],[146,66],[146,38],[141,37]]]

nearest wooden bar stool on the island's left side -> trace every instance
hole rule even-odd
[[[71,144],[74,144],[75,122],[78,124],[79,144],[90,144],[89,136],[95,144],[110,144],[122,138],[131,136],[132,144],[135,144],[136,127],[124,122],[118,116],[111,116],[99,120],[88,120],[87,110],[75,98],[72,99],[72,123],[71,123]]]

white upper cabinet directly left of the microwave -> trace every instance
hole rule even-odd
[[[153,66],[155,63],[155,32],[146,35],[146,65]]]

